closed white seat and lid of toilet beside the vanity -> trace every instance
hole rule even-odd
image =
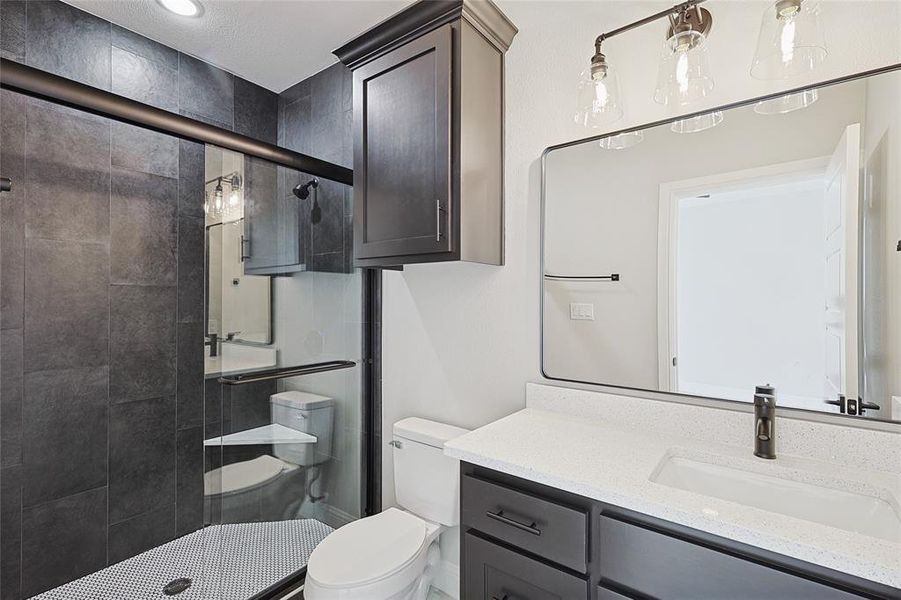
[[[317,598],[388,598],[422,574],[437,529],[396,508],[349,523],[313,551],[307,588]]]

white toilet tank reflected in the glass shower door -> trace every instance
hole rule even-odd
[[[273,444],[272,454],[309,467],[332,458],[335,401],[326,396],[291,390],[269,397],[272,422],[316,437],[314,444]]]

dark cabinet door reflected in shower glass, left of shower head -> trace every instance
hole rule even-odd
[[[302,269],[298,201],[272,163],[244,157],[244,272],[273,274]]]

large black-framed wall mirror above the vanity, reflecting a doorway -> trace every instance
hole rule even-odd
[[[547,377],[901,421],[897,66],[543,170]]]

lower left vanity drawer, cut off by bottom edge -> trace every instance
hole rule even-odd
[[[466,533],[466,600],[587,600],[588,582]]]

